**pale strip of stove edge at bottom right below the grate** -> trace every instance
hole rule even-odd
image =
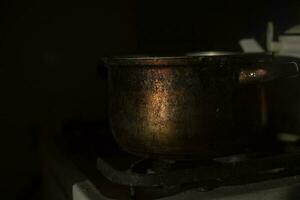
[[[159,200],[298,200],[299,182],[300,176],[291,176],[247,185],[221,187],[209,192],[192,189]]]

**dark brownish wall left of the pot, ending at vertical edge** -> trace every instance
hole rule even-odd
[[[0,9],[0,190],[13,199],[36,173],[33,130],[107,117],[97,65],[135,50],[135,14],[131,0],[4,0]]]

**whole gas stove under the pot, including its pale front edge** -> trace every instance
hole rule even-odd
[[[300,191],[300,151],[297,147],[211,160],[177,161],[141,158],[122,151],[107,123],[73,121],[57,135],[52,146],[60,152],[59,157],[63,155],[71,163],[68,166],[76,170],[59,172],[62,167],[58,166],[52,171],[69,178],[70,171],[77,171],[81,177],[73,178],[74,181],[65,186],[65,190],[72,193],[65,195],[70,199],[300,197],[297,192]],[[66,182],[64,179],[60,182]]]

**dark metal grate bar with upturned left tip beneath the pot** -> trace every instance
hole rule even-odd
[[[174,163],[165,172],[134,172],[114,169],[108,162],[98,158],[97,166],[110,181],[135,187],[179,187],[195,184],[206,190],[220,186],[247,184],[299,174],[299,154],[283,154],[248,159],[236,163]],[[150,164],[152,164],[150,162]],[[144,166],[143,166],[144,167]],[[151,165],[148,166],[148,171]],[[151,170],[152,171],[152,170]],[[180,179],[178,179],[180,177]],[[241,178],[242,177],[242,178]]]

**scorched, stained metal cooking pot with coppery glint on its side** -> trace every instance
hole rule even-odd
[[[271,55],[106,60],[110,119],[121,147],[187,159],[243,152],[263,141],[261,85],[280,76]]]

